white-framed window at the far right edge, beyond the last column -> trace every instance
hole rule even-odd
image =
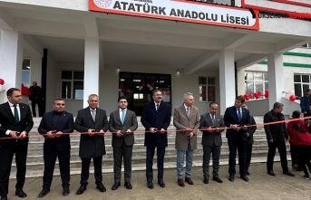
[[[302,97],[306,90],[311,89],[311,75],[308,74],[295,74],[294,75],[294,88],[295,95]]]

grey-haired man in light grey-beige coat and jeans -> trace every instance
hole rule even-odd
[[[193,185],[191,180],[193,150],[197,148],[197,130],[199,129],[199,110],[193,106],[193,94],[187,92],[183,96],[184,103],[174,110],[174,126],[176,127],[175,148],[177,149],[178,185],[185,186],[182,176],[184,157],[186,154],[185,181]]]

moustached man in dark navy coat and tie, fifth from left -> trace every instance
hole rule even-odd
[[[168,147],[168,134],[166,130],[170,126],[171,115],[170,105],[162,101],[161,90],[153,90],[152,99],[144,105],[141,113],[141,124],[146,130],[144,142],[147,148],[146,177],[147,186],[150,189],[153,188],[152,160],[155,148],[157,148],[158,184],[161,187],[165,187],[163,182],[163,163],[165,148]]]

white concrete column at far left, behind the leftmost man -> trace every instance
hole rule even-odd
[[[5,81],[4,89],[0,92],[0,103],[7,101],[6,90],[21,89],[23,65],[22,33],[1,30],[0,34],[0,78]]]

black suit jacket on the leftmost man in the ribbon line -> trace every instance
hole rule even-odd
[[[0,105],[0,138],[11,138],[10,135],[5,135],[6,130],[14,130],[27,132],[27,136],[31,129],[33,129],[34,121],[32,113],[28,105],[24,103],[19,104],[21,113],[20,121],[16,123],[12,110],[8,102]],[[0,146],[11,146],[15,143],[15,139],[0,139]],[[19,142],[28,142],[29,138],[20,139]]]

